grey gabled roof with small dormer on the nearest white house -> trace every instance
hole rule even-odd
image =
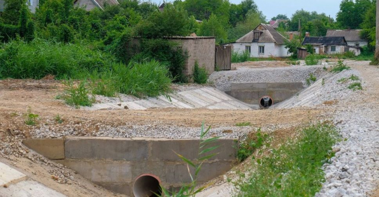
[[[260,25],[262,25],[263,29],[257,29]],[[257,42],[276,42],[277,44],[284,44],[284,40],[286,38],[280,35],[280,33],[278,33],[274,28],[263,23],[260,25],[235,42],[253,42],[254,32],[261,32]]]

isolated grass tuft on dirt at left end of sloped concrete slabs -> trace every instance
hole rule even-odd
[[[58,95],[57,99],[62,99],[69,106],[74,106],[79,108],[80,106],[92,106],[95,102],[95,97],[90,94],[89,84],[86,79],[81,80],[78,84],[72,79],[64,80],[63,85],[65,85],[64,92]]]

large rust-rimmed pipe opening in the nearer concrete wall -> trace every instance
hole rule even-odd
[[[161,195],[162,190],[160,186],[159,177],[153,174],[141,174],[133,183],[133,194],[135,197],[152,197]]]

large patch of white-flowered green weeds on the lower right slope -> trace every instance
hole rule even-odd
[[[272,154],[256,159],[247,181],[238,181],[238,196],[313,196],[324,182],[322,165],[334,156],[338,131],[328,124],[305,127]],[[243,178],[242,178],[243,179]]]

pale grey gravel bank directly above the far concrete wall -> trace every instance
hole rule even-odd
[[[208,81],[214,83],[217,89],[230,91],[231,83],[247,82],[303,82],[312,73],[317,78],[321,78],[327,72],[318,66],[292,66],[279,68],[241,68],[232,71],[214,72]]]

